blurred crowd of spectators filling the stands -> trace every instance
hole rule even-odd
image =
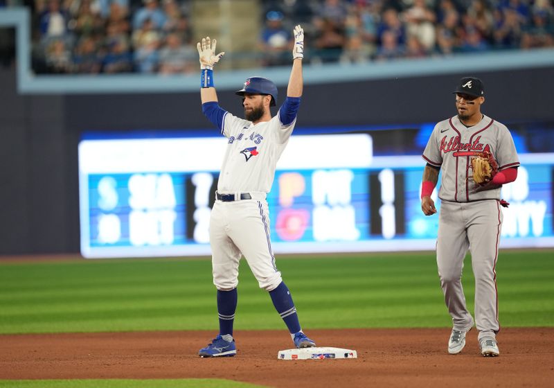
[[[240,0],[234,0],[240,1]],[[33,12],[37,73],[197,71],[190,0],[12,1]],[[554,46],[553,0],[260,0],[255,52],[262,66],[289,62],[302,24],[310,63]]]

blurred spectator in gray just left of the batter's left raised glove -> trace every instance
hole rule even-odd
[[[160,50],[159,71],[162,74],[196,71],[198,52],[193,46],[182,44],[178,33],[166,37],[166,46]]]

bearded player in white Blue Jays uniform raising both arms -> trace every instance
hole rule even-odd
[[[251,77],[235,92],[242,96],[244,116],[238,118],[217,104],[213,87],[213,65],[224,53],[215,54],[215,39],[197,44],[202,78],[202,111],[226,136],[215,204],[210,218],[213,283],[217,288],[220,333],[204,349],[201,357],[233,356],[233,321],[237,307],[238,267],[242,255],[258,280],[269,292],[297,348],[315,346],[302,331],[287,285],[275,265],[269,238],[269,209],[266,195],[273,184],[276,164],[285,150],[296,124],[296,112],[303,89],[302,60],[304,31],[294,28],[293,64],[287,98],[276,116],[277,87],[261,77]]]

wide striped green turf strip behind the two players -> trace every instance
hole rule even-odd
[[[449,327],[433,253],[278,258],[304,328]],[[502,326],[553,326],[554,254],[501,252]],[[463,283],[470,310],[469,256]],[[235,328],[280,329],[243,260]],[[0,261],[0,333],[217,329],[209,260]]]

